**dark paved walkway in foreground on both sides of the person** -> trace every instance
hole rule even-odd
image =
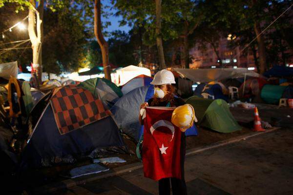
[[[293,130],[277,130],[189,156],[189,195],[292,195]],[[156,195],[142,170],[75,186],[54,195]]]

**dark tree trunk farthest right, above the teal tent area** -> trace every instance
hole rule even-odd
[[[258,57],[259,57],[259,73],[263,74],[266,71],[266,46],[265,46],[265,40],[263,35],[259,34],[261,33],[261,28],[259,23],[254,23],[254,32],[257,37],[257,43],[258,43]]]

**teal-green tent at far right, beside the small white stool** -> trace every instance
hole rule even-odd
[[[266,103],[279,103],[280,98],[282,98],[284,91],[287,86],[280,85],[265,85],[261,90],[261,98]]]

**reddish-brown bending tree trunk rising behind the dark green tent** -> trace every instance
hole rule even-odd
[[[101,0],[95,0],[95,6],[94,6],[94,33],[98,40],[98,43],[101,48],[102,52],[102,60],[103,60],[103,67],[104,67],[104,74],[105,78],[108,80],[111,80],[111,69],[109,64],[109,49],[108,49],[108,43],[104,39],[103,33],[102,33],[102,21],[101,21]]]

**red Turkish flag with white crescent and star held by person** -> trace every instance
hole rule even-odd
[[[147,107],[144,119],[143,165],[146,177],[181,179],[181,131],[171,123],[174,108]]]

